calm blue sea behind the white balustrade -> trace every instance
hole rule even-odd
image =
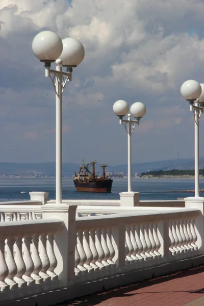
[[[200,188],[204,189],[203,179],[200,180]],[[193,190],[194,180],[133,179],[132,189],[141,193],[142,200],[174,200],[178,197],[194,196],[193,193],[176,192]],[[26,193],[21,194],[21,191]],[[0,201],[27,200],[30,199],[31,191],[47,191],[49,199],[55,199],[55,179],[0,178]],[[127,179],[113,179],[112,192],[107,194],[78,192],[75,191],[71,178],[62,180],[63,199],[119,199],[119,192],[122,191],[127,191]]]

